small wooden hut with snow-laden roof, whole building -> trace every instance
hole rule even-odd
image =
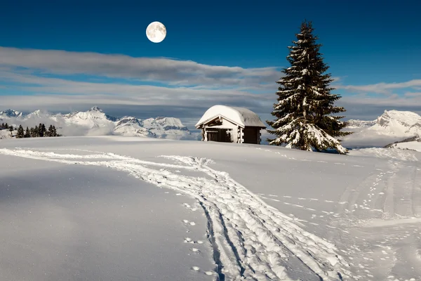
[[[260,144],[260,130],[266,129],[255,112],[243,107],[214,105],[196,124],[202,141]]]

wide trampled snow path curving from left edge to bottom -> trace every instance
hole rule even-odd
[[[338,254],[335,245],[303,230],[293,218],[270,207],[227,173],[211,169],[210,159],[162,156],[178,162],[169,164],[113,153],[79,152],[83,153],[0,149],[3,155],[106,166],[196,198],[208,218],[219,280],[347,280],[350,277],[349,264]],[[201,172],[203,176],[183,176],[176,172],[178,169]]]

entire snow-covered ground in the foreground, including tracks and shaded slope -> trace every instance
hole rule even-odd
[[[420,152],[0,144],[4,280],[421,280]]]

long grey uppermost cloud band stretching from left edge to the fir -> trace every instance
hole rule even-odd
[[[281,76],[276,67],[228,67],[171,58],[133,58],[128,55],[4,47],[0,47],[0,65],[25,67],[49,74],[91,74],[163,81],[180,86],[255,86],[274,82]]]

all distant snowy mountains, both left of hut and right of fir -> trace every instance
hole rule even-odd
[[[199,133],[192,133],[173,117],[138,119],[135,117],[116,118],[106,115],[94,106],[88,111],[68,114],[51,114],[36,110],[27,115],[16,110],[0,112],[0,123],[14,126],[35,126],[44,123],[55,125],[58,133],[64,136],[140,136],[149,138],[168,138],[173,140],[199,140]],[[385,110],[373,121],[352,119],[345,129],[353,131],[342,140],[347,148],[385,147],[396,141],[417,140],[421,136],[421,116],[414,112]],[[8,138],[10,133],[0,130],[0,138]],[[414,137],[414,138],[413,138]],[[395,145],[396,146],[396,145]]]

